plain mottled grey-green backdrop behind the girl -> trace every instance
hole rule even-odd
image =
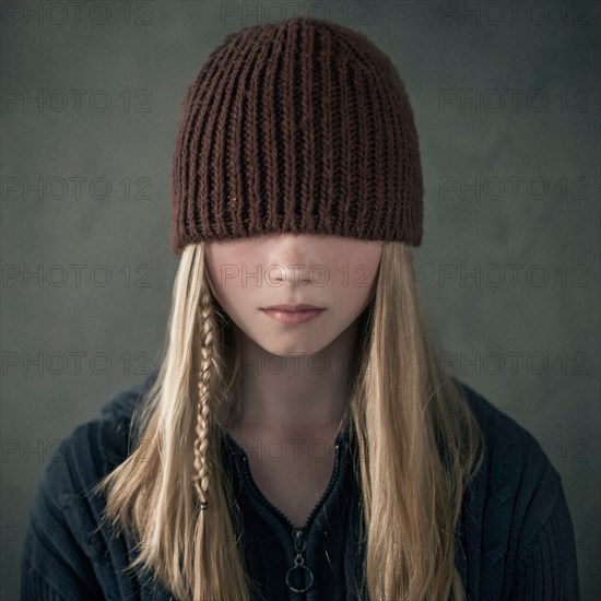
[[[156,365],[186,86],[226,33],[294,14],[366,33],[399,68],[421,141],[416,267],[433,329],[456,375],[545,448],[582,599],[599,599],[600,7],[516,4],[95,2],[78,14],[52,2],[36,15],[37,2],[3,3],[2,599],[19,598],[52,449]],[[466,189],[476,178],[480,198]]]

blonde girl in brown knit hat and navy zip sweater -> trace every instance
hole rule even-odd
[[[226,36],[176,143],[161,367],[46,469],[23,599],[578,600],[558,473],[438,362],[422,200],[364,35]]]

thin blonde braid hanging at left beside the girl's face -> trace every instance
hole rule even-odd
[[[200,373],[198,380],[197,425],[195,440],[195,487],[200,498],[200,508],[207,510],[209,500],[209,466],[207,447],[209,445],[209,384],[213,358],[213,308],[209,291],[203,288],[200,296]]]

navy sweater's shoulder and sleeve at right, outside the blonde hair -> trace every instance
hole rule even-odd
[[[546,582],[551,566],[563,576],[561,582],[547,585],[566,587],[570,598],[577,599],[574,528],[559,473],[528,429],[466,384],[455,381],[486,446],[463,509],[464,542],[472,558],[480,556],[484,580],[491,584],[492,575],[504,566],[504,573],[514,575],[512,586],[523,591]],[[512,594],[521,599],[516,590]]]

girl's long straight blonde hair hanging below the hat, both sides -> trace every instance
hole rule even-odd
[[[375,295],[362,314],[347,405],[362,491],[369,599],[464,599],[455,567],[463,492],[484,439],[438,358],[422,309],[411,247],[382,243]],[[244,547],[234,540],[232,483],[219,413],[236,411],[240,357],[214,299],[204,245],[185,248],[163,362],[132,415],[135,448],[97,485],[115,532],[177,599],[248,601]],[[205,510],[202,499],[210,499]]]

